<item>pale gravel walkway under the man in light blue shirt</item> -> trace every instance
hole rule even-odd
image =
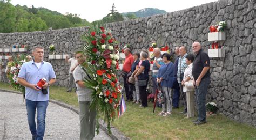
[[[4,127],[4,130],[1,127]],[[2,136],[3,133],[4,136]],[[26,120],[26,107],[20,94],[0,92],[0,140],[2,137],[3,139],[31,139]],[[78,114],[49,102],[44,139],[79,139]],[[100,129],[95,139],[111,138]]]

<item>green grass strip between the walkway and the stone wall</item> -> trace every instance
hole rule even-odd
[[[0,82],[1,89],[14,90]],[[74,92],[67,93],[66,87],[50,87],[50,98],[78,107]],[[153,113],[153,105],[139,108],[126,102],[126,112],[113,122],[113,126],[131,139],[256,139],[256,128],[228,119],[223,115],[210,116],[207,123],[194,126],[196,117],[184,119],[178,114],[182,109],[173,109],[170,116],[158,116],[160,108]]]

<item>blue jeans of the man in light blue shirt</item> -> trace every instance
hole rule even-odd
[[[31,101],[26,99],[26,111],[28,115],[29,129],[32,136],[36,139],[43,139],[45,131],[45,116],[48,101]],[[37,109],[37,128],[35,122],[35,115]]]

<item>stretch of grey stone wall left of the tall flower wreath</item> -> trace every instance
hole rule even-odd
[[[83,42],[80,38],[82,38],[86,28],[87,27],[76,27],[62,30],[0,34],[0,46],[1,48],[10,48],[15,43],[27,45],[29,46],[28,51],[20,54],[29,55],[32,53],[33,46],[39,45],[44,47],[44,61],[49,61],[56,72],[57,82],[55,85],[68,86],[70,65],[65,63],[64,59],[48,60],[50,54],[49,46],[51,44],[55,45],[56,54],[70,54],[70,56],[72,56],[73,53],[83,48]],[[16,54],[18,53],[12,53],[12,55]],[[7,60],[3,60],[3,63],[3,69],[5,69]],[[8,81],[3,70],[1,80],[4,82]],[[75,86],[75,84],[73,86]]]

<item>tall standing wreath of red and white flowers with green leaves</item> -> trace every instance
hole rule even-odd
[[[90,107],[96,108],[96,131],[99,132],[99,116],[107,121],[109,133],[110,123],[119,110],[121,90],[117,78],[119,70],[119,46],[110,30],[99,27],[96,23],[83,36],[86,63],[84,70],[89,78],[84,79],[85,86],[92,89]]]

